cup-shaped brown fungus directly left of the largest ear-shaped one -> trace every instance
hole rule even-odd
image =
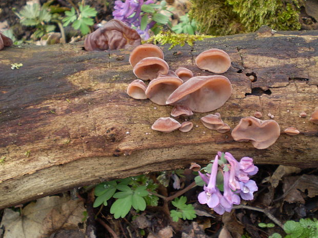
[[[167,98],[183,81],[176,77],[161,77],[150,81],[146,90],[146,96],[158,105],[166,105]]]

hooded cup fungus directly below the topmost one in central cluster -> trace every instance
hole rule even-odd
[[[152,80],[159,74],[168,74],[168,63],[158,57],[147,57],[136,63],[133,73],[140,79]]]

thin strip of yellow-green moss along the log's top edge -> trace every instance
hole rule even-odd
[[[177,45],[184,46],[188,44],[193,45],[194,41],[204,40],[205,38],[211,38],[210,35],[188,35],[188,34],[176,34],[170,31],[161,31],[160,33],[150,37],[146,42],[153,44],[171,44],[169,50]]]

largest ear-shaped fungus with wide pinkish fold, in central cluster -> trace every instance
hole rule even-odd
[[[222,75],[190,78],[167,99],[167,104],[184,104],[193,112],[206,113],[221,107],[231,96],[232,86]]]

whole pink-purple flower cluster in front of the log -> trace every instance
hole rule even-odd
[[[230,153],[225,153],[224,158],[228,163],[221,162],[222,169],[220,170],[224,181],[222,194],[216,186],[219,157],[222,157],[221,152],[218,152],[214,159],[211,174],[202,174],[199,171],[205,185],[204,191],[198,194],[198,201],[201,204],[207,204],[216,213],[222,215],[225,211],[231,211],[233,204],[240,204],[241,198],[244,200],[253,199],[253,192],[257,191],[258,188],[255,181],[250,180],[249,176],[255,175],[259,168],[253,164],[252,158],[243,157],[238,162]]]

